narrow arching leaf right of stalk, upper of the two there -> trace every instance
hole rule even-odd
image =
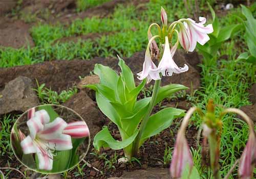
[[[188,87],[185,87],[185,86],[180,85],[180,84],[170,84],[170,85],[166,85],[166,86],[161,87],[159,89],[159,93],[157,95],[156,103],[154,105],[158,104],[164,98],[172,95],[173,93],[176,93],[177,91],[185,90],[185,89],[188,89]]]

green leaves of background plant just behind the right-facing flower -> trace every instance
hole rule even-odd
[[[242,24],[232,24],[222,28],[214,9],[212,9],[209,4],[208,7],[212,15],[214,32],[209,34],[210,40],[205,45],[197,44],[197,49],[205,59],[209,60],[217,54],[224,41],[228,40],[234,33],[242,28]]]

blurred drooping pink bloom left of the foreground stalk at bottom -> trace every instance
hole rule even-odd
[[[182,131],[179,131],[173,152],[172,163],[170,164],[170,174],[172,178],[180,178],[186,166],[193,168],[193,159],[187,140]]]

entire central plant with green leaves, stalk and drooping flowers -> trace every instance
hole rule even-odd
[[[173,73],[182,73],[188,70],[185,64],[179,67],[174,61],[174,54],[179,44],[186,52],[193,52],[197,42],[204,44],[209,40],[207,34],[212,33],[212,25],[204,26],[205,18],[200,17],[200,22],[180,19],[172,24],[167,24],[167,14],[161,8],[162,28],[153,23],[148,28],[148,45],[145,52],[145,60],[138,79],[142,82],[135,86],[134,74],[119,58],[118,65],[121,72],[118,75],[114,70],[101,64],[96,64],[94,73],[100,78],[99,84],[87,85],[86,87],[96,91],[96,101],[99,109],[118,126],[122,141],[115,140],[107,127],[104,127],[95,137],[93,145],[99,150],[100,147],[123,149],[125,157],[131,160],[136,156],[139,147],[145,140],[159,134],[170,126],[173,119],[182,117],[184,110],[165,108],[151,115],[155,105],[162,99],[173,93],[188,89],[179,84],[169,84],[160,87],[162,76],[172,76]],[[151,29],[157,28],[157,34],[152,35]],[[177,41],[173,44],[173,38]],[[157,43],[157,41],[159,43]],[[157,59],[156,65],[152,59]],[[153,94],[137,100],[137,96],[146,83],[155,81]]]

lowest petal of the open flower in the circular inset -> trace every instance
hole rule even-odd
[[[38,168],[41,170],[52,170],[53,155],[50,151],[37,147]]]

